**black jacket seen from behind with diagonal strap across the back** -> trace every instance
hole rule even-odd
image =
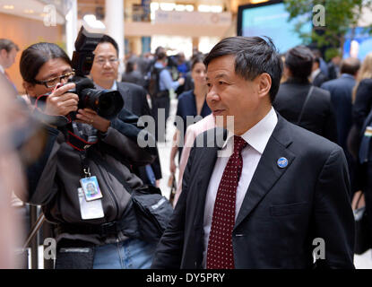
[[[295,79],[281,83],[273,102],[273,107],[282,117],[292,124],[297,124],[310,86],[311,84],[308,82],[301,83]],[[336,117],[329,91],[314,87],[298,126],[302,126],[317,135],[324,136],[333,143],[337,143]]]

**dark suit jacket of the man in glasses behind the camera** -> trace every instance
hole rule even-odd
[[[117,83],[117,91],[120,92],[124,99],[125,109],[128,109],[138,117],[151,116],[151,109],[146,98],[147,92],[143,89],[143,87],[134,83]],[[162,176],[159,152],[155,161],[151,163],[151,167],[155,174],[155,178],[160,179]],[[144,183],[150,183],[146,176],[144,167],[140,167],[135,171],[140,178],[143,179]]]

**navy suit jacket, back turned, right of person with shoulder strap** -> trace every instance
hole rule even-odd
[[[340,78],[322,84],[321,88],[331,92],[331,102],[336,115],[338,141],[343,150],[347,150],[346,140],[352,125],[352,88],[355,79],[351,74],[342,74]]]

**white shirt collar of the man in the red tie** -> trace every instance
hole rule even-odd
[[[270,136],[273,134],[273,130],[278,123],[278,116],[276,115],[275,110],[270,109],[267,115],[261,119],[255,126],[251,127],[247,132],[241,137],[252,146],[257,152],[261,154],[264,153],[267,142],[269,141]],[[228,139],[223,143],[223,149],[226,148],[226,145],[230,142],[231,138],[234,136],[232,132],[229,131]]]

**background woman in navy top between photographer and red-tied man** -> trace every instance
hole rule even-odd
[[[208,87],[206,84],[206,69],[203,64],[203,57],[195,57],[191,65],[191,74],[194,80],[195,88],[192,91],[185,91],[178,97],[176,116],[182,119],[182,123],[175,122],[177,126],[176,132],[173,135],[173,144],[170,152],[170,173],[176,172],[175,158],[178,152],[178,160],[182,154],[182,147],[186,128],[195,123],[195,121],[187,121],[187,117],[196,117],[195,120],[200,120],[203,117],[211,114],[205,97],[207,95]],[[181,124],[182,126],[178,126]],[[181,128],[181,129],[179,129]]]

